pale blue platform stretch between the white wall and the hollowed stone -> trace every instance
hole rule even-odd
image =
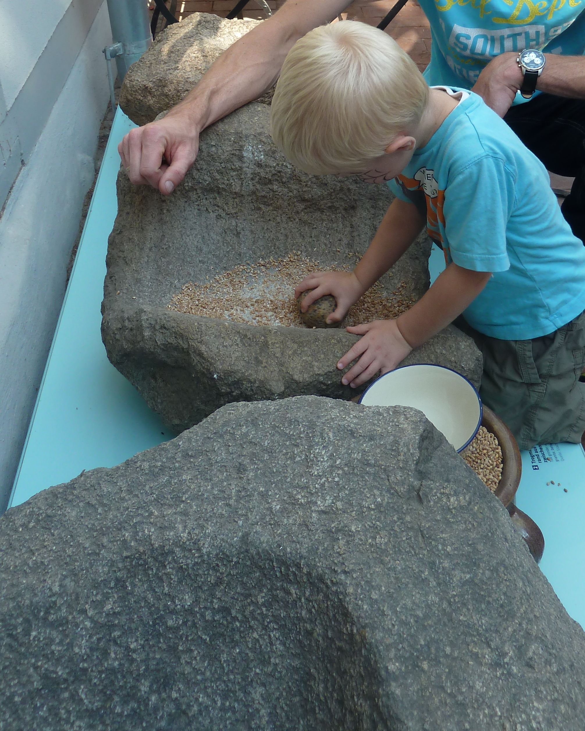
[[[118,109],[8,507],[174,436],[107,360],[100,334],[107,238],[118,210],[117,148],[133,126]]]

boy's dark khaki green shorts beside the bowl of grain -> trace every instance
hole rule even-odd
[[[483,354],[480,395],[505,421],[522,450],[581,442],[585,431],[585,312],[550,335],[498,340],[462,317],[454,323]]]

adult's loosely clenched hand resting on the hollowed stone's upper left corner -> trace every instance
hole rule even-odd
[[[118,145],[131,182],[151,185],[163,195],[183,180],[198,150],[199,133],[180,107],[159,121],[131,129]]]

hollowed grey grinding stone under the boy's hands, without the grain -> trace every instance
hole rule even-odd
[[[348,253],[367,249],[389,189],[299,173],[272,145],[268,117],[265,105],[251,104],[204,132],[196,166],[168,198],[118,176],[102,336],[111,362],[175,432],[230,401],[354,393],[336,368],[357,339],[343,329],[256,327],[167,308],[183,284],[246,261],[298,251],[323,268],[347,267]],[[386,292],[404,284],[405,295],[419,298],[429,251],[419,238],[382,278]],[[480,352],[454,327],[405,363],[481,379]]]

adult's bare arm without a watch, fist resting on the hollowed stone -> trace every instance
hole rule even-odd
[[[288,0],[235,42],[163,119],[123,138],[118,151],[132,183],[172,193],[195,162],[202,130],[271,88],[294,43],[348,4],[350,0]]]

